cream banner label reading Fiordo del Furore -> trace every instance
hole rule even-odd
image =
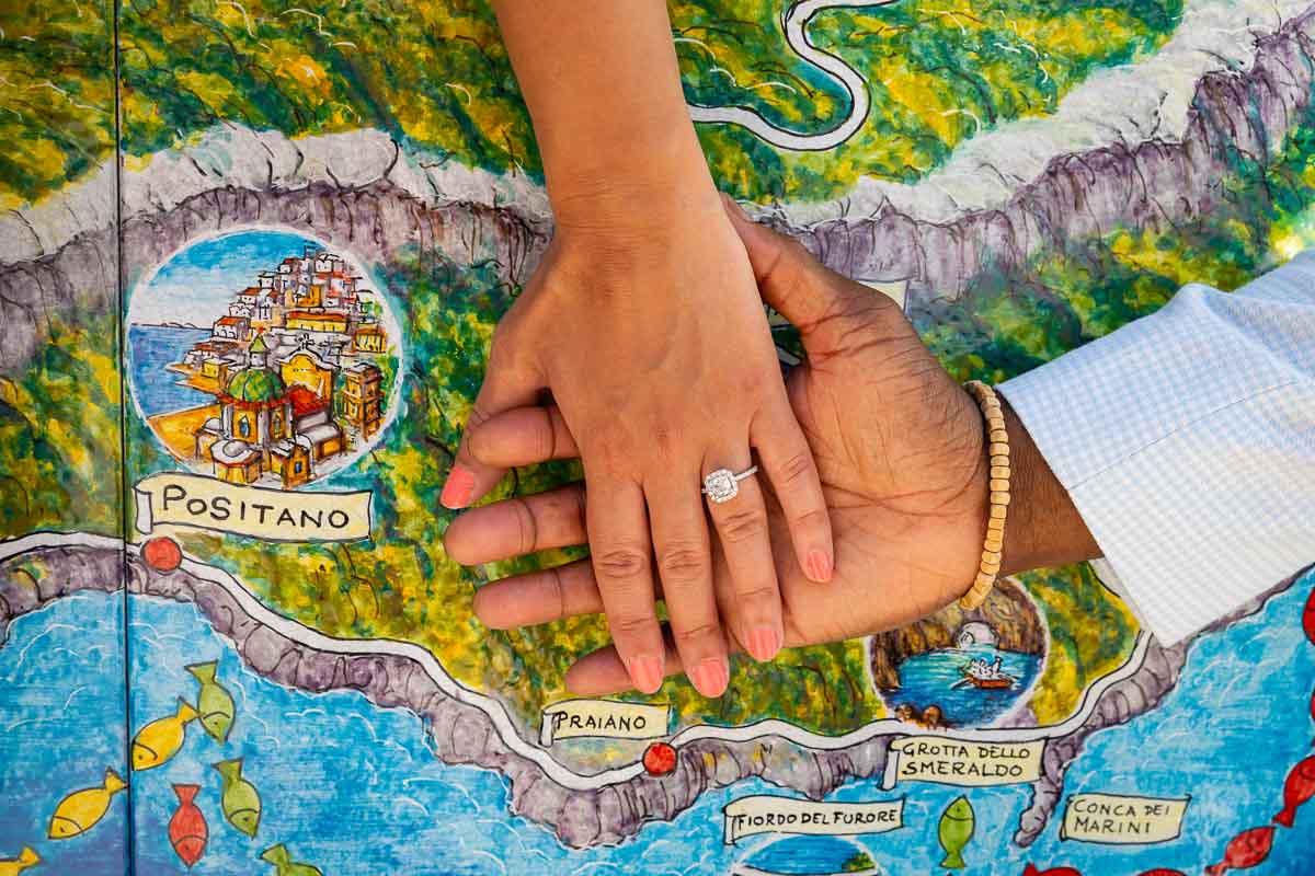
[[[734,846],[756,834],[884,834],[903,827],[903,797],[874,802],[817,802],[753,795],[723,809],[725,842]]]

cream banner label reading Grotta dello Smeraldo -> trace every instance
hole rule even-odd
[[[1041,777],[1045,742],[972,742],[948,737],[905,737],[890,743],[881,787],[931,781],[964,788],[1011,785]]]

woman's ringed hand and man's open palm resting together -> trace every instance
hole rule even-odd
[[[464,565],[590,545],[589,559],[475,596],[500,629],[605,612],[613,646],[567,675],[581,695],[652,693],[684,670],[719,696],[732,651],[769,661],[898,626],[976,571],[988,493],[976,403],[893,301],[734,201],[714,205],[700,235],[669,232],[681,255],[654,257],[655,276],[633,257],[627,273],[598,273],[596,244],[581,253],[559,226],[498,326],[443,490],[464,508],[512,466],[583,460],[584,483],[471,510],[444,537]],[[633,294],[655,286],[676,299]],[[763,302],[806,349],[784,382]],[[752,464],[735,498],[705,503],[709,471]]]

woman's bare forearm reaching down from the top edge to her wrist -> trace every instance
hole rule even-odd
[[[661,0],[494,0],[559,223],[719,209]],[[654,217],[658,218],[658,217]]]

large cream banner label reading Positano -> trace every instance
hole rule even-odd
[[[137,529],[208,529],[263,541],[359,541],[370,537],[370,490],[288,493],[164,471],[142,478]]]

